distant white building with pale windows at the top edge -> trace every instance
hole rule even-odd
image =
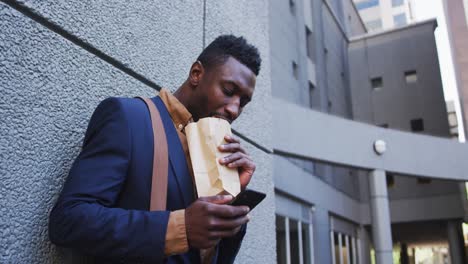
[[[412,0],[354,0],[369,31],[401,27],[414,20]]]

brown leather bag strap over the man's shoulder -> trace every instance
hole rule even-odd
[[[167,173],[169,169],[166,131],[161,114],[151,99],[138,97],[148,106],[153,126],[153,177],[151,182],[150,211],[166,210]]]

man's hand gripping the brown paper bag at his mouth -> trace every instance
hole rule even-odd
[[[255,163],[241,147],[239,139],[233,136],[225,136],[224,139],[227,144],[219,146],[219,150],[221,152],[231,152],[232,154],[220,159],[219,163],[229,168],[238,168],[241,190],[245,190],[255,172]]]

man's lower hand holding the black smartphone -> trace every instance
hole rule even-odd
[[[231,200],[230,195],[202,197],[185,209],[187,240],[191,247],[213,247],[222,238],[237,234],[249,221],[249,208],[227,205]]]

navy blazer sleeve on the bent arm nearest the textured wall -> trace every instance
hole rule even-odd
[[[110,259],[162,263],[168,211],[116,208],[131,159],[131,130],[121,99],[95,110],[49,217],[57,245]]]

